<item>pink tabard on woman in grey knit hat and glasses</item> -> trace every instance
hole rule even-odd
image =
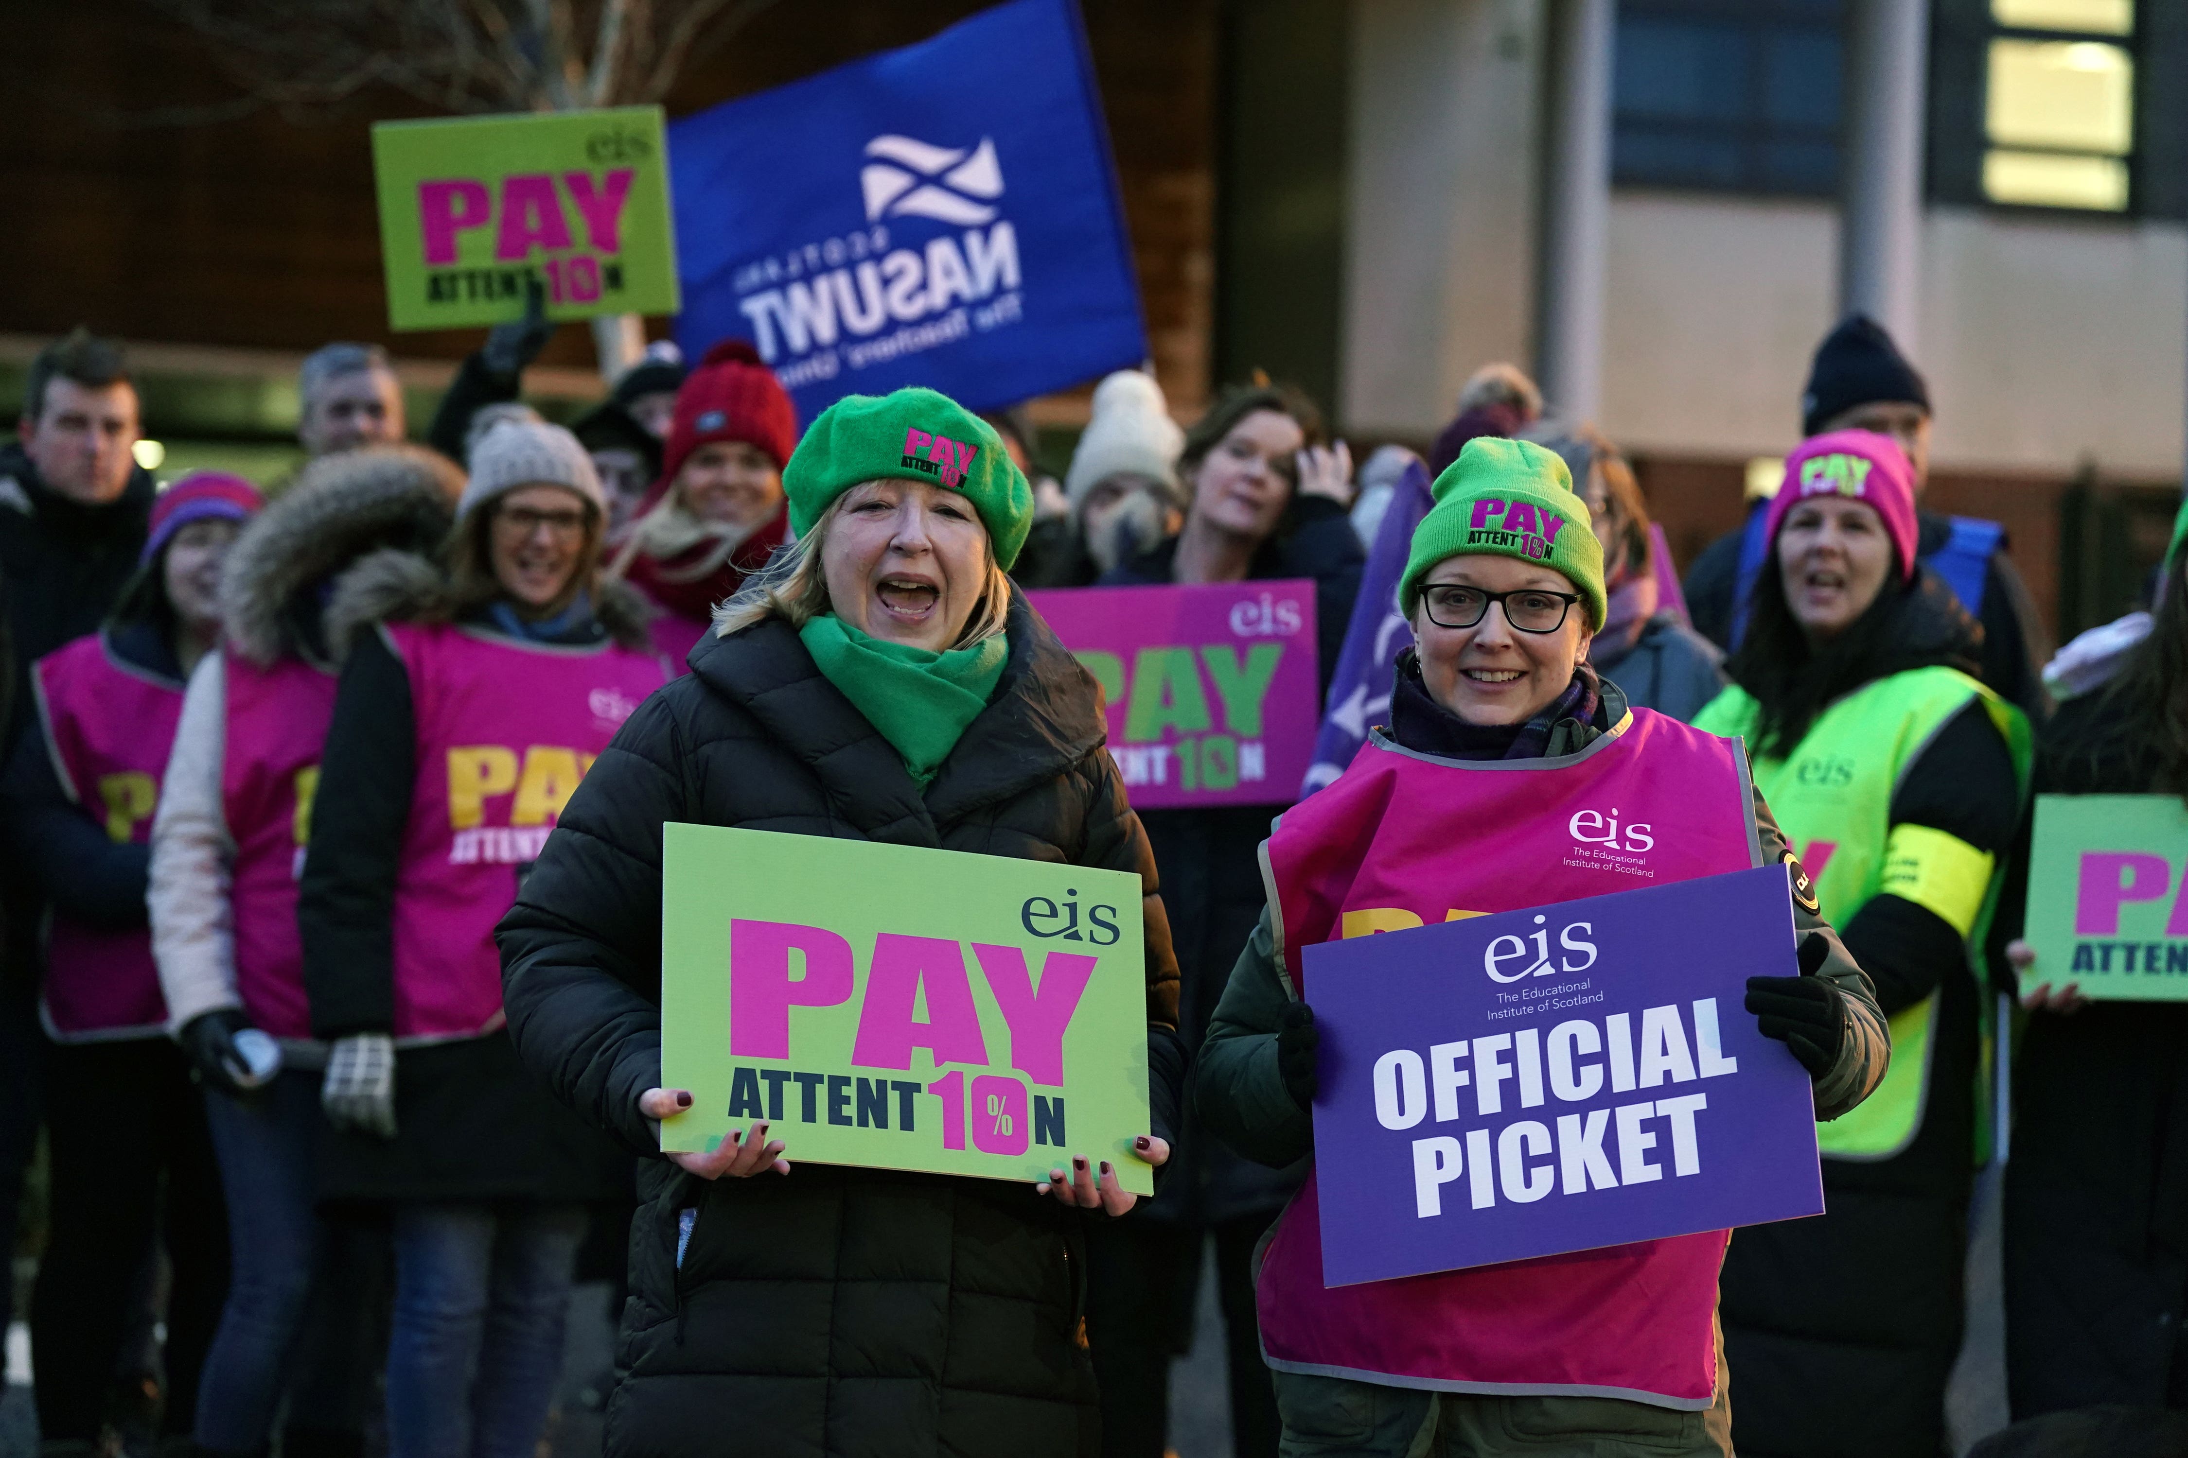
[[[394,907],[398,1043],[503,1023],[494,922],[593,756],[667,682],[652,654],[389,623],[418,726]]]

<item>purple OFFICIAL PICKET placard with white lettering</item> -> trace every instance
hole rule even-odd
[[[1799,971],[1783,866],[1304,964],[1330,1285],[1823,1213],[1807,1071],[1742,1008]]]

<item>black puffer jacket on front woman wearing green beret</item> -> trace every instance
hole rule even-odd
[[[663,822],[941,846],[1140,872],[1149,1091],[1168,1137],[1184,1054],[1155,861],[1094,682],[1024,599],[1009,643],[996,697],[921,796],[788,623],[702,638],[691,675],[586,774],[501,922],[523,1060],[632,1150],[656,1148],[637,1100],[661,1082]],[[1076,1336],[1098,1215],[1022,1185],[829,1165],[707,1185],[648,1159],[639,1194],[608,1454],[1098,1451]]]

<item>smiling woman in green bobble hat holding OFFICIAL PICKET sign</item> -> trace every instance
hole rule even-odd
[[[1389,728],[1284,811],[1262,848],[1269,907],[1195,1075],[1206,1128],[1265,1165],[1313,1152],[1308,944],[1446,920],[1451,907],[1623,892],[1637,872],[1663,885],[1768,863],[1788,866],[1801,975],[1750,977],[1748,1012],[1807,1069],[1820,1119],[1855,1108],[1888,1060],[1869,979],[1807,896],[1739,745],[1628,708],[1588,667],[1604,562],[1564,461],[1532,442],[1468,442],[1435,481],[1398,597],[1418,647],[1398,660]],[[1582,835],[1615,837],[1617,857],[1578,846]],[[1308,1176],[1256,1290],[1280,1451],[1729,1456],[1724,1242],[1709,1231],[1326,1287]]]

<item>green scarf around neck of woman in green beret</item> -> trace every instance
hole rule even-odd
[[[834,612],[807,621],[799,638],[827,682],[904,756],[904,769],[919,789],[934,780],[950,750],[987,708],[1011,656],[1002,634],[934,654],[869,638]]]

